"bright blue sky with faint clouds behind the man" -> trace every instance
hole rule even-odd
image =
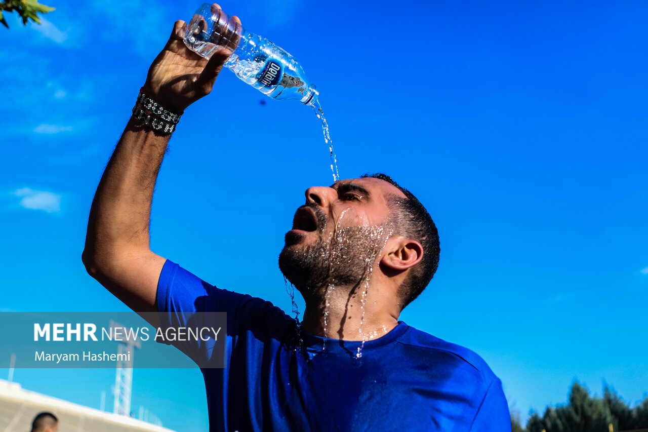
[[[45,3],[42,25],[0,29],[0,307],[122,311],[80,261],[87,213],[150,62],[199,4]],[[645,396],[647,4],[221,5],[318,85],[343,178],[388,173],[430,210],[439,270],[402,320],[478,352],[523,418],[573,379]],[[229,71],[216,88],[172,138],[152,248],[290,310],[277,256],[303,191],[332,181],[328,149],[305,106]],[[114,374],[14,379],[98,408]],[[133,387],[133,411],[207,429],[197,370],[137,369]]]

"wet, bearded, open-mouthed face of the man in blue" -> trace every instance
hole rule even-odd
[[[309,187],[279,255],[279,268],[302,293],[359,283],[391,234],[389,196],[405,197],[377,178]]]

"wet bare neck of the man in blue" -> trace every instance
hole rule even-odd
[[[389,333],[398,324],[396,305],[384,298],[385,290],[364,284],[328,287],[306,300],[303,329],[312,335],[345,341],[371,341]]]

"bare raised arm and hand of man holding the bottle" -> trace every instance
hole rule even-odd
[[[185,29],[184,21],[176,21],[143,88],[175,114],[211,91],[231,54],[219,49],[207,62],[185,47]],[[157,310],[157,280],[165,259],[150,250],[148,225],[169,138],[131,117],[99,182],[88,219],[82,256],[87,272],[137,312]]]

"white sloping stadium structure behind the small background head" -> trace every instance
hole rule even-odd
[[[29,432],[36,414],[58,417],[60,432],[173,432],[171,429],[30,392],[0,379],[0,432]]]

